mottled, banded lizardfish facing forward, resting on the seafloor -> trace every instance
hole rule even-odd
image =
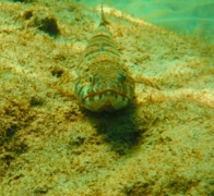
[[[119,110],[133,98],[134,81],[107,29],[103,8],[102,22],[84,50],[78,75],[74,91],[91,111]]]

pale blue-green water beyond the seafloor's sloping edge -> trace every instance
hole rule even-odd
[[[99,3],[123,10],[128,14],[214,42],[214,0],[78,0],[90,7]]]

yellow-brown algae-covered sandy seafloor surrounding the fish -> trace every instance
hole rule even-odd
[[[212,196],[214,47],[105,13],[133,77],[160,89],[138,83],[128,109],[92,113],[73,83],[99,8],[0,3],[0,195]]]

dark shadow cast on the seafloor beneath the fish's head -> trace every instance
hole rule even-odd
[[[104,142],[110,145],[111,150],[119,155],[127,155],[139,144],[141,135],[145,132],[142,127],[138,128],[134,118],[134,107],[116,112],[93,113],[84,111],[88,120],[95,124]]]

